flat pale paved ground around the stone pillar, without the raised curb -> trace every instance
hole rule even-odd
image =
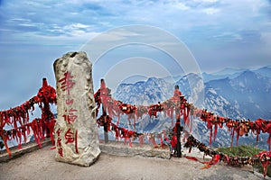
[[[75,166],[58,162],[56,149],[43,147],[22,157],[0,163],[0,179],[16,180],[260,180],[261,175],[224,163],[201,169],[199,162],[186,158],[116,156],[101,153],[92,166]]]

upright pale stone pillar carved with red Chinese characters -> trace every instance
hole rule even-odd
[[[57,89],[56,160],[90,166],[100,154],[92,65],[85,52],[69,52],[53,64]]]

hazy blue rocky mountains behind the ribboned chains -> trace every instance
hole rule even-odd
[[[271,119],[271,67],[257,69],[226,68],[213,74],[188,74],[180,76],[175,83],[166,78],[150,77],[135,84],[121,84],[113,97],[124,103],[149,105],[164,102],[173,96],[174,85],[179,85],[182,94],[199,108],[205,108],[217,115],[231,119]],[[176,79],[176,77],[174,77]],[[200,83],[203,82],[203,83]],[[194,92],[197,92],[195,94]],[[194,94],[193,94],[194,93]],[[199,99],[201,104],[197,104]],[[127,126],[126,117],[121,120]],[[160,114],[158,118],[145,116],[136,123],[137,131],[159,131],[171,127],[171,120]],[[201,120],[194,120],[192,134],[203,143],[209,144],[210,132]],[[266,135],[261,136],[259,146],[266,148]],[[240,138],[239,143],[256,142],[249,135]],[[220,129],[214,146],[229,146],[230,132]]]

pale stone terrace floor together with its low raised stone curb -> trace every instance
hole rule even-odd
[[[133,143],[109,141],[100,143],[103,152],[90,167],[80,167],[57,162],[51,140],[46,139],[39,148],[35,142],[13,149],[13,158],[0,154],[0,179],[263,179],[251,168],[227,166],[223,162],[201,169],[204,165],[185,156],[203,159],[203,153],[192,148],[182,148],[182,158],[171,157],[168,147],[154,148],[145,144],[140,148]],[[23,175],[23,176],[22,176]],[[266,176],[266,179],[271,179]]]

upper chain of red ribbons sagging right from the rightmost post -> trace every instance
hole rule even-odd
[[[210,130],[210,145],[211,139],[216,139],[216,135],[218,133],[218,128],[222,128],[225,124],[229,131],[231,132],[231,146],[233,143],[233,138],[236,134],[237,144],[240,136],[248,136],[248,132],[251,131],[253,134],[258,135],[260,133],[269,133],[269,137],[267,139],[267,143],[269,145],[269,150],[271,148],[271,121],[266,121],[263,119],[257,119],[256,121],[246,121],[246,120],[232,120],[230,118],[220,117],[218,115],[214,115],[213,112],[207,112],[206,110],[200,110],[193,108],[193,115],[196,117],[200,117],[202,121],[207,122],[207,128]],[[213,133],[214,128],[214,133]]]

